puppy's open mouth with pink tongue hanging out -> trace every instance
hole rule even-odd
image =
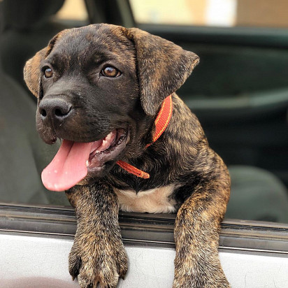
[[[51,163],[43,170],[43,185],[52,191],[70,189],[87,173],[103,171],[108,161],[115,161],[127,144],[127,131],[115,129],[106,137],[89,143],[63,140]]]

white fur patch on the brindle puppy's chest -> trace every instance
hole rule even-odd
[[[175,185],[169,185],[141,191],[136,194],[134,190],[115,189],[118,196],[120,209],[127,212],[138,213],[173,213],[175,200],[170,195]]]

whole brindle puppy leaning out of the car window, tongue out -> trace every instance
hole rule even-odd
[[[229,173],[175,94],[198,62],[174,43],[108,24],[64,30],[27,62],[38,132],[48,144],[62,139],[42,178],[48,189],[66,190],[75,207],[69,272],[81,287],[116,287],[127,273],[119,209],[178,210],[173,287],[229,287],[217,251]],[[173,114],[152,143],[168,95]],[[125,171],[119,160],[150,178]]]

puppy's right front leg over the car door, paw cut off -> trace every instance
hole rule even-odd
[[[221,181],[220,181],[221,182]],[[219,229],[229,199],[229,180],[203,181],[175,220],[173,288],[227,288],[219,261]]]

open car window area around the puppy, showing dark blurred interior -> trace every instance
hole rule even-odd
[[[36,99],[24,84],[22,68],[62,29],[89,24],[97,1],[37,0],[36,8],[18,2],[0,1],[0,202],[69,206],[64,193],[48,192],[41,183],[41,171],[59,143],[45,145],[36,134]],[[288,5],[271,0],[129,3],[131,11],[117,13],[133,13],[136,26],[201,57],[178,94],[229,166],[232,193],[226,218],[288,223],[288,55],[283,49],[288,45]],[[114,15],[104,2],[99,6]],[[195,29],[203,26],[208,29]],[[261,31],[237,29],[260,26]]]

